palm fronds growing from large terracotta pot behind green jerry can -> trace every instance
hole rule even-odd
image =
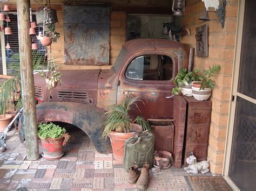
[[[151,130],[151,125],[142,116],[136,118],[129,116],[129,111],[131,111],[133,105],[138,108],[136,102],[143,101],[140,100],[140,97],[126,94],[122,103],[113,104],[109,107],[109,111],[105,112],[106,121],[103,123],[103,137],[107,137],[111,131],[129,133],[130,123],[137,123],[142,126],[143,130]]]

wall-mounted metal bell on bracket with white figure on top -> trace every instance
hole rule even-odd
[[[205,3],[206,11],[204,11],[201,16],[199,17],[200,20],[208,21],[210,20],[208,12],[215,12],[219,18],[221,23],[221,27],[224,28],[225,25],[225,15],[226,15],[226,0],[221,0],[219,4],[219,0],[212,1],[212,0],[202,0]],[[209,8],[215,8],[215,11],[209,11]]]

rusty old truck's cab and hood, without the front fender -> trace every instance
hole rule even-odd
[[[139,115],[146,119],[172,119],[176,86],[174,76],[187,68],[185,46],[166,39],[127,41],[111,69],[62,70],[62,85],[51,91],[45,80],[35,74],[35,94],[43,102],[77,102],[107,110],[122,101],[125,94],[141,96]]]

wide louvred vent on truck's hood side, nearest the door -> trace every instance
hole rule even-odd
[[[72,101],[80,101],[87,100],[87,92],[86,91],[58,91],[58,98],[60,100],[72,100]]]

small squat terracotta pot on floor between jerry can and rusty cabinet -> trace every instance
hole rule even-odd
[[[171,166],[172,154],[168,151],[156,151],[154,153],[154,167],[169,168]]]

